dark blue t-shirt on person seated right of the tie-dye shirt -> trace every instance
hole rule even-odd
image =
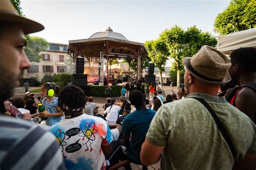
[[[126,149],[127,158],[134,164],[140,164],[140,148],[145,140],[147,130],[156,111],[140,109],[128,114],[123,122],[122,132],[132,133],[132,142]]]

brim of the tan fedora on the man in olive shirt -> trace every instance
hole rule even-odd
[[[192,58],[192,57],[184,57],[184,58],[183,58],[183,63],[184,63],[184,65],[185,65],[186,69],[187,69],[194,77],[196,77],[197,79],[199,79],[199,80],[201,80],[201,81],[203,81],[203,82],[205,82],[205,83],[208,83],[208,84],[225,84],[225,83],[227,83],[228,81],[231,80],[230,73],[228,73],[228,72],[226,73],[226,75],[225,75],[223,81],[221,81],[221,82],[218,82],[218,81],[209,81],[209,80],[205,80],[205,79],[203,79],[203,78],[197,76],[196,74],[193,73],[193,71],[191,71],[190,69],[188,69],[188,64],[190,64],[191,58]]]

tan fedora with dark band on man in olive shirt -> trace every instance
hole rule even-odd
[[[210,84],[224,84],[231,80],[230,60],[223,52],[204,45],[193,57],[185,57],[186,69],[197,79]]]

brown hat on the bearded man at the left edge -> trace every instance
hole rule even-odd
[[[0,22],[16,23],[21,26],[25,35],[44,29],[42,24],[20,17],[10,0],[0,0]]]

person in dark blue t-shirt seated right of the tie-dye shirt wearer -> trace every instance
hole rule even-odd
[[[138,90],[133,90],[130,93],[129,100],[131,101],[131,105],[136,107],[136,111],[128,114],[124,119],[122,128],[124,146],[126,147],[127,159],[134,164],[142,165],[139,155],[140,148],[142,147],[145,135],[156,112],[146,108],[143,94]],[[132,141],[130,143],[131,134]],[[143,167],[143,169],[147,168]]]

